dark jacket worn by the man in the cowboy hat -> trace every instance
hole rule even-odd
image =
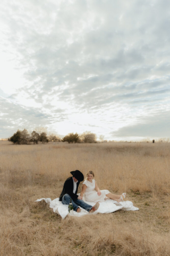
[[[66,179],[66,181],[64,182],[64,186],[63,186],[63,191],[59,197],[59,201],[62,201],[63,199],[63,196],[65,194],[69,194],[69,196],[71,196],[71,198],[74,200],[74,199],[77,199],[78,198],[78,187],[79,187],[79,184],[80,184],[80,181],[78,181],[76,183],[77,185],[77,188],[75,190],[75,194],[73,193],[73,188],[74,188],[74,185],[73,185],[73,177],[70,177],[68,179]]]

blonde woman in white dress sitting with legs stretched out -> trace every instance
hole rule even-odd
[[[84,195],[84,199],[87,202],[105,202],[105,197],[108,197],[119,203],[125,198],[126,193],[123,193],[122,195],[114,195],[110,193],[108,190],[100,191],[94,177],[95,177],[94,172],[89,171],[87,173],[87,178],[83,182],[80,196],[83,197]],[[94,191],[94,189],[96,191]]]

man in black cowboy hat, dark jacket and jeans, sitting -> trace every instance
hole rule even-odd
[[[78,196],[78,187],[81,181],[83,181],[84,176],[79,170],[70,172],[73,177],[66,179],[63,186],[63,191],[59,197],[59,200],[63,204],[70,204],[70,198],[72,199],[73,210],[76,212],[81,212],[80,207],[86,211],[92,213],[96,211],[99,207],[99,203],[96,203],[94,206],[84,203],[81,196]],[[79,207],[80,206],[80,207]]]

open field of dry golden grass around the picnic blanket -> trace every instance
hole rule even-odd
[[[1,256],[170,255],[170,143],[1,141],[0,163]],[[140,210],[62,220],[34,202],[58,197],[76,169]]]

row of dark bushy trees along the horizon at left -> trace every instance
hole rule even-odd
[[[83,132],[82,134],[78,133],[69,133],[63,139],[54,134],[47,135],[46,130],[35,130],[31,134],[28,130],[18,130],[15,132],[12,137],[8,138],[8,141],[13,142],[14,144],[38,144],[38,143],[48,143],[49,141],[62,141],[69,143],[96,143],[97,136],[92,132]]]

